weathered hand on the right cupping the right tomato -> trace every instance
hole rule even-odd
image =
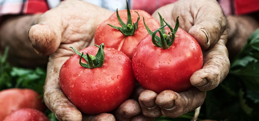
[[[139,96],[144,116],[179,117],[201,106],[206,91],[217,87],[228,74],[230,64],[225,47],[226,19],[215,0],[179,0],[157,11],[171,25],[175,25],[176,17],[179,16],[180,28],[192,35],[203,50],[203,68],[190,78],[195,87],[180,93],[165,90],[157,94],[145,90]],[[157,12],[152,16],[159,20]]]

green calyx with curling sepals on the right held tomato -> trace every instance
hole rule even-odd
[[[160,28],[158,28],[157,30],[155,30],[154,32],[152,32],[146,25],[144,17],[143,17],[143,21],[144,21],[144,25],[148,31],[148,33],[152,36],[152,43],[157,46],[157,47],[161,47],[163,49],[168,49],[175,41],[175,38],[178,37],[177,35],[175,35],[176,31],[179,28],[179,16],[176,18],[176,25],[175,28],[173,29],[171,25],[169,25],[165,19],[162,18],[162,16],[160,15],[160,13],[158,12],[159,18],[160,18]],[[166,25],[164,25],[164,22]],[[170,32],[165,33],[165,26],[168,26],[170,29]],[[161,31],[160,31],[161,30]],[[159,33],[160,38],[156,35],[156,33]]]

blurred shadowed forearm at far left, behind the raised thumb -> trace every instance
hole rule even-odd
[[[31,68],[47,65],[48,57],[34,52],[27,35],[28,29],[35,24],[39,16],[39,14],[35,14],[1,17],[4,21],[0,25],[0,52],[1,49],[9,47],[8,61],[11,64]]]

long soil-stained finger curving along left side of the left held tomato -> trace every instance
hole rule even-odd
[[[66,98],[59,85],[59,70],[67,57],[49,59],[44,91],[44,102],[59,121],[81,121],[82,114]]]

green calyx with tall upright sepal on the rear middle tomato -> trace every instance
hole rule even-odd
[[[127,1],[126,1],[127,2]],[[137,14],[138,12],[135,11]],[[110,25],[110,24],[107,24],[109,26],[111,26],[112,28],[115,28],[117,30],[119,30],[123,35],[125,36],[131,36],[135,33],[135,31],[137,30],[138,28],[138,21],[140,19],[139,17],[139,14],[138,14],[138,19],[137,21],[134,23],[133,22],[133,25],[132,25],[132,21],[131,21],[131,14],[130,14],[130,8],[129,8],[129,5],[128,5],[128,2],[127,2],[127,15],[128,15],[128,19],[127,19],[127,25],[121,20],[120,16],[119,16],[119,13],[118,13],[118,8],[117,8],[117,18],[119,20],[119,23],[122,27],[117,27],[117,26],[113,26],[113,25]]]

